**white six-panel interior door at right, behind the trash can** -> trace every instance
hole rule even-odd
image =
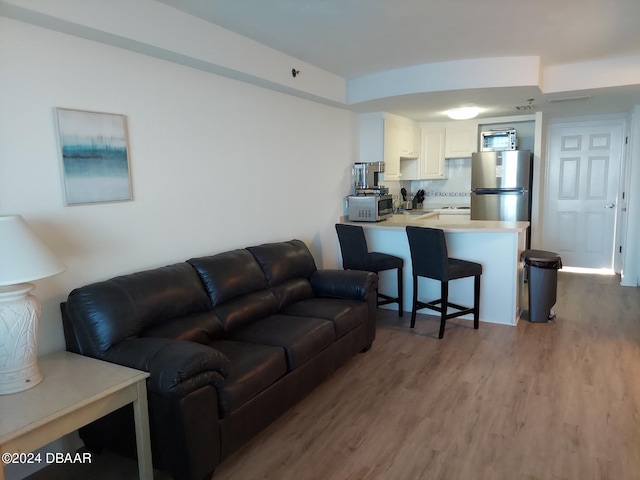
[[[613,269],[623,124],[549,128],[543,245],[568,267]]]

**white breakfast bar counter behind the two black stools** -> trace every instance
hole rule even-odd
[[[449,256],[470,260],[482,265],[480,292],[480,321],[516,325],[521,314],[520,297],[524,282],[520,254],[525,250],[529,222],[499,222],[484,220],[443,221],[437,214],[394,215],[382,222],[341,223],[363,227],[370,251],[389,253],[404,259],[404,310],[411,311],[412,272],[411,253],[405,227],[440,228],[447,239]],[[380,272],[381,292],[396,294],[395,272]],[[440,298],[436,280],[420,278],[418,283],[422,301]],[[473,304],[473,278],[453,280],[449,283],[449,300],[460,305]],[[393,306],[387,306],[394,308]],[[430,310],[419,313],[436,314]],[[471,315],[461,317],[471,319]],[[408,320],[407,320],[408,322]]]

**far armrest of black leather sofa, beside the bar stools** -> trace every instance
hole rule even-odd
[[[309,281],[320,297],[366,300],[378,288],[378,276],[363,270],[316,270]]]

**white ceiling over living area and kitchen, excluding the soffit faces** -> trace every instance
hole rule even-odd
[[[537,56],[543,66],[640,56],[640,0],[158,0],[345,79],[443,61]],[[591,95],[551,104],[553,97]],[[534,108],[518,111],[533,98]],[[541,94],[537,87],[421,93],[352,105],[419,121],[459,104],[485,116],[627,112],[640,84]]]

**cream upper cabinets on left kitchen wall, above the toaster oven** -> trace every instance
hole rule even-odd
[[[388,113],[360,116],[360,161],[384,162],[385,180],[400,180],[400,158],[417,158],[419,151],[417,123]]]

